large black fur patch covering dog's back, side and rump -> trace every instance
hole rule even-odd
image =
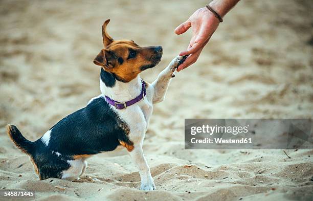
[[[30,155],[41,180],[61,178],[61,172],[70,168],[66,161],[73,160],[74,155],[112,151],[120,145],[119,141],[132,144],[128,134],[127,124],[100,97],[55,124],[48,147],[38,139]],[[52,154],[52,151],[61,155]]]

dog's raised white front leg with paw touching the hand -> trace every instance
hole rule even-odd
[[[154,88],[154,94],[152,103],[162,102],[165,98],[165,94],[171,78],[175,77],[174,72],[176,68],[184,62],[187,56],[177,56],[170,64],[159,74],[158,78],[152,82]]]

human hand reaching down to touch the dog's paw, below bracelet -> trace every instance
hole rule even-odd
[[[180,56],[189,56],[184,63],[178,66],[177,71],[181,71],[196,62],[218,25],[219,20],[211,11],[207,8],[200,8],[185,23],[175,29],[175,34],[180,35],[185,33],[190,27],[192,28],[192,37],[188,49],[180,53]]]

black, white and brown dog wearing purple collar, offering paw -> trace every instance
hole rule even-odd
[[[153,83],[145,82],[139,74],[161,61],[162,47],[140,47],[132,40],[114,40],[106,31],[109,21],[102,26],[104,49],[94,59],[101,66],[101,94],[35,142],[27,140],[14,125],[7,126],[8,135],[29,155],[39,180],[77,180],[87,168],[87,158],[123,146],[139,169],[140,189],[154,190],[143,140],[152,105],[164,100],[169,82],[186,56],[174,58]]]

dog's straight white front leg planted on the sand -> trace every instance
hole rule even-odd
[[[139,169],[139,174],[141,177],[141,190],[150,191],[155,189],[153,178],[150,173],[150,168],[144,157],[142,146],[136,146],[129,152],[133,162]]]

